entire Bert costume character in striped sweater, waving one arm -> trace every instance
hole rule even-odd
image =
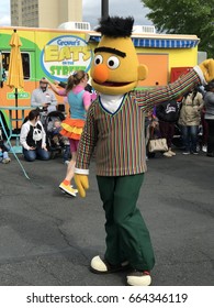
[[[94,273],[127,270],[127,284],[150,285],[155,265],[149,232],[136,207],[146,172],[145,113],[156,103],[172,100],[214,77],[214,61],[194,67],[166,87],[134,88],[147,76],[137,61],[131,34],[132,18],[101,20],[102,37],[94,50],[92,86],[99,92],[88,111],[79,143],[75,180],[81,197],[89,188],[89,164],[95,147],[97,180],[105,211],[106,251],[94,256]]]

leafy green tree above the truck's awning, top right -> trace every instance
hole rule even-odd
[[[195,34],[199,51],[214,55],[214,0],[140,0],[150,12],[146,15],[159,32]]]

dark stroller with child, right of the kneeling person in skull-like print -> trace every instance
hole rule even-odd
[[[43,121],[43,127],[46,132],[47,150],[50,152],[50,157],[60,156],[69,145],[67,139],[60,135],[60,122],[65,120],[65,116],[60,111],[52,111],[47,113]],[[57,123],[57,125],[56,125]]]

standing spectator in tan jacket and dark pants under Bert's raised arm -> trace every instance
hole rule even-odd
[[[181,128],[183,139],[184,155],[190,153],[199,154],[198,134],[203,106],[203,96],[198,88],[192,89],[183,96],[179,117],[179,125]]]

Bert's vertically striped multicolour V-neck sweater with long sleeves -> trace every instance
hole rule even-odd
[[[92,102],[80,139],[76,168],[89,169],[95,147],[97,175],[124,176],[146,172],[145,112],[172,100],[200,84],[191,70],[176,82],[151,90],[125,94],[115,113],[108,112],[100,97]]]

